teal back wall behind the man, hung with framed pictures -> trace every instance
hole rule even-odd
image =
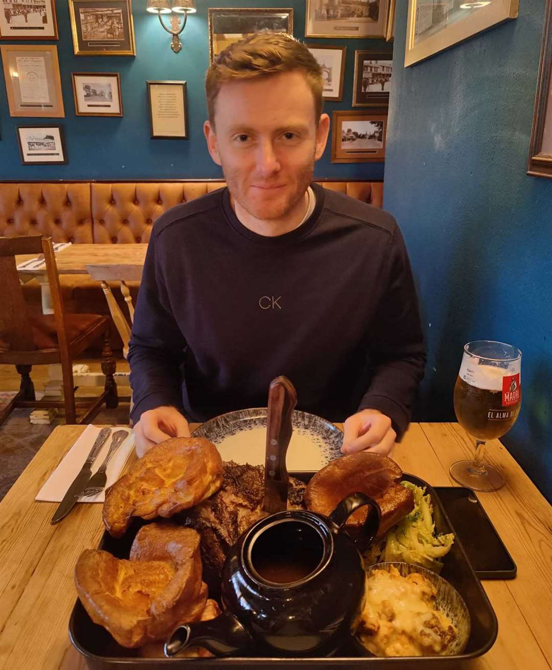
[[[67,0],[56,1],[60,39],[56,44],[60,59],[64,119],[15,119],[9,116],[5,82],[0,75],[0,180],[50,179],[176,179],[222,177],[220,167],[207,153],[202,131],[206,119],[204,74],[209,64],[207,7],[196,0],[198,11],[190,15],[181,39],[183,48],[174,54],[170,37],[155,15],[146,13],[146,0],[134,0],[133,16],[137,56],[74,56]],[[213,6],[211,4],[211,6]],[[216,7],[293,7],[294,34],[305,35],[305,1],[255,0],[243,3],[222,0]],[[165,19],[166,20],[166,19]],[[390,50],[385,40],[314,40],[314,44],[346,46],[346,78],[343,100],[325,103],[334,109],[352,109],[354,50]],[[7,44],[7,42],[4,42]],[[17,44],[13,42],[11,44]],[[25,44],[21,42],[21,44]],[[26,44],[33,44],[27,42]],[[119,72],[123,96],[123,118],[76,117],[71,72]],[[188,82],[190,139],[150,139],[146,80],[177,79]],[[69,157],[68,165],[21,165],[16,125],[60,123]],[[330,143],[316,165],[317,177],[382,180],[383,163],[332,165]]]

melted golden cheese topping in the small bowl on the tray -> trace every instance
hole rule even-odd
[[[374,570],[366,580],[366,604],[358,635],[377,656],[445,655],[456,628],[435,609],[435,587],[418,572],[401,577],[396,567]]]

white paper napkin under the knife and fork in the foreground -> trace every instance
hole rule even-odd
[[[84,461],[90,453],[90,449],[92,449],[94,440],[98,437],[100,430],[100,427],[92,425],[91,423],[86,426],[82,435],[80,435],[80,438],[78,438],[75,444],[70,448],[56,470],[52,472],[46,484],[42,486],[35,500],[47,500],[48,502],[61,502],[63,500],[69,486],[80,472],[80,468],[84,465]],[[112,427],[111,435],[113,435],[116,430],[126,430],[129,433],[129,436],[123,444],[121,444],[119,449],[117,449],[115,454],[113,454],[109,465],[107,466],[106,488],[119,479],[121,470],[123,470],[127,459],[134,449],[134,435],[132,429],[126,426],[116,425]],[[102,446],[102,450],[92,465],[92,474],[98,470],[105,456],[107,456],[109,445],[111,444],[111,435],[107,438],[104,446]],[[79,498],[79,502],[104,502],[104,500],[105,489],[96,496]]]

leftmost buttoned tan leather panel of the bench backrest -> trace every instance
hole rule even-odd
[[[0,237],[92,243],[90,183],[0,184]]]

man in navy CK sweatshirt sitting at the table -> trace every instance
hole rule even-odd
[[[188,420],[266,406],[345,421],[344,452],[389,454],[425,354],[401,233],[387,212],[312,184],[328,139],[320,66],[286,35],[228,47],[206,76],[220,189],[153,226],[129,347],[137,452]]]

